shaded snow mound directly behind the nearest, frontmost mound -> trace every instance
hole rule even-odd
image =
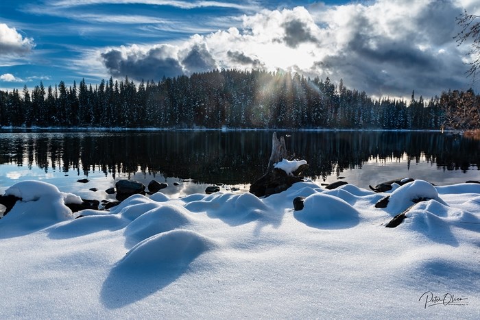
[[[184,227],[191,221],[189,214],[182,206],[169,204],[149,210],[125,228],[127,245],[135,245],[155,234]]]

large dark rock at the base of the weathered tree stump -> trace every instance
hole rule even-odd
[[[287,175],[282,169],[274,168],[250,185],[250,193],[257,197],[268,197],[274,193],[281,193],[290,188],[292,184],[302,181],[303,177]]]

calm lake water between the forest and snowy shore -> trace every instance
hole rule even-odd
[[[287,150],[307,160],[319,183],[343,179],[368,188],[413,177],[436,185],[480,180],[480,141],[440,132],[278,132]],[[43,180],[89,199],[106,199],[119,179],[167,182],[167,195],[222,183],[248,190],[272,151],[269,131],[0,131],[0,193]],[[87,177],[90,182],[80,184]],[[177,182],[177,186],[173,186]],[[88,190],[98,188],[97,192]]]

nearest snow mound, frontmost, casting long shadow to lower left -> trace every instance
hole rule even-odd
[[[172,230],[151,236],[135,245],[119,262],[142,272],[185,266],[197,256],[213,249],[215,243],[192,230]]]

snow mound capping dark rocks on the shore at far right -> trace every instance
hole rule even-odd
[[[409,208],[416,200],[435,199],[441,204],[446,203],[438,197],[437,189],[424,180],[415,180],[396,188],[390,195],[387,208],[394,214]]]

